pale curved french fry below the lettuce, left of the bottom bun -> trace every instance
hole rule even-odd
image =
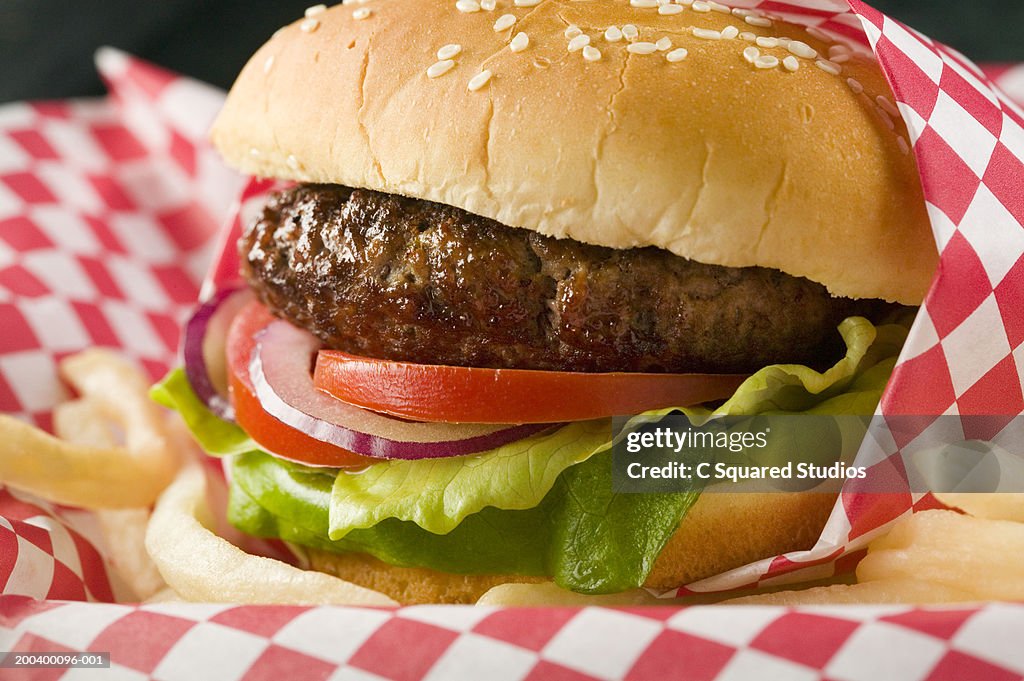
[[[164,492],[145,546],[167,584],[186,601],[396,605],[384,594],[324,572],[250,555],[208,529],[206,478],[195,464]]]

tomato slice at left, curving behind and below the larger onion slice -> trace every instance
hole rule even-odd
[[[267,414],[260,405],[249,378],[249,359],[256,346],[253,337],[274,320],[263,305],[252,302],[238,313],[227,332],[229,394],[239,425],[260,446],[283,459],[336,468],[365,468],[377,463],[374,459],[310,437]]]

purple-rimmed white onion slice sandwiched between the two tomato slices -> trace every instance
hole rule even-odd
[[[313,385],[321,342],[287,322],[257,336],[249,365],[256,396],[279,421],[322,442],[377,459],[439,459],[486,452],[553,424],[413,423],[352,407]],[[557,425],[557,424],[555,424]]]

